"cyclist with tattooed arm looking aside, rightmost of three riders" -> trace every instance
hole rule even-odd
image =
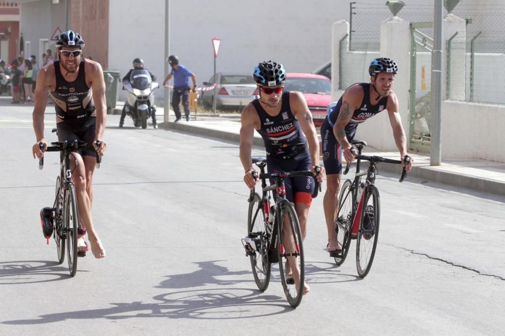
[[[326,192],[323,198],[324,215],[328,229],[326,250],[338,252],[341,246],[335,235],[335,219],[338,212],[338,190],[342,177],[342,150],[345,161],[354,159],[350,141],[358,125],[377,113],[387,110],[396,147],[401,161],[407,155],[407,138],[398,112],[398,99],[391,90],[398,71],[396,62],[380,57],[369,66],[370,83],[356,83],[348,87],[337,102],[328,105],[328,114],[321,125],[323,162],[326,168]],[[413,159],[406,167],[412,168]],[[405,165],[405,164],[403,164]]]

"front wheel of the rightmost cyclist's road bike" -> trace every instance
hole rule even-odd
[[[365,278],[370,272],[374,261],[380,221],[379,190],[374,185],[370,185],[366,192],[356,243],[356,266],[358,274],[362,278]]]

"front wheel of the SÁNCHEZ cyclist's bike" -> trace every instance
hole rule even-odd
[[[305,291],[304,244],[298,216],[293,206],[286,200],[280,208],[280,215],[277,217],[279,272],[287,301],[291,306],[297,307]]]

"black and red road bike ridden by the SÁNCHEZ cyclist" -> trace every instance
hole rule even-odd
[[[272,263],[278,262],[284,294],[289,304],[297,307],[305,289],[304,245],[298,216],[286,198],[284,179],[314,175],[311,171],[265,173],[267,162],[264,157],[254,157],[252,163],[260,168],[259,176],[256,171],[252,174],[261,179],[262,196],[255,188],[251,189],[248,199],[247,236],[242,239],[245,255],[250,258],[252,275],[261,291],[265,291],[269,285]],[[273,179],[275,182],[267,185],[267,179]],[[313,180],[313,197],[316,197],[320,185],[315,177]],[[275,202],[272,203],[273,197]],[[289,267],[291,272],[286,270],[286,267]],[[295,268],[299,269],[298,276],[295,275]],[[297,283],[294,277],[297,277]]]

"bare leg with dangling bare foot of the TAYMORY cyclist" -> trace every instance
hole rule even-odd
[[[72,178],[75,184],[75,191],[77,194],[77,205],[79,208],[79,215],[82,219],[82,224],[86,229],[88,234],[89,243],[91,245],[91,252],[95,258],[103,258],[105,257],[105,250],[98,238],[96,231],[94,230],[93,221],[91,219],[91,200],[87,193],[87,185],[86,185],[86,169],[84,161],[86,161],[86,167],[94,167],[96,160],[94,157],[85,156],[84,161],[82,157],[78,154],[73,153],[76,161],[78,162],[77,167],[72,174]],[[92,162],[92,165],[90,165]],[[74,165],[73,165],[74,166]],[[94,169],[94,168],[93,168]],[[92,174],[92,173],[91,173]]]

